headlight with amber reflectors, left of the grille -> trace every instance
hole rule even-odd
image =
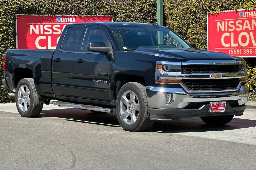
[[[181,62],[157,62],[155,72],[156,83],[181,83]]]

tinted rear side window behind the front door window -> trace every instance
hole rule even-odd
[[[63,39],[61,50],[63,51],[72,51],[77,52],[79,46],[79,34],[82,30],[82,27],[70,27]]]

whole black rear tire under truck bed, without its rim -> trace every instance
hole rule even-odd
[[[30,93],[30,104],[25,112],[20,109],[18,104],[18,90],[22,85],[25,85]],[[16,107],[22,117],[36,117],[41,113],[44,102],[39,102],[39,95],[37,94],[33,78],[25,78],[20,80],[15,95]]]

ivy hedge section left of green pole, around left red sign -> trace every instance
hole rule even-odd
[[[111,15],[113,21],[151,23],[156,18],[156,0],[1,0],[0,1],[0,80],[3,56],[16,48],[15,14]],[[13,101],[1,89],[0,103]]]

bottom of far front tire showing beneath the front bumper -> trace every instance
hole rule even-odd
[[[233,117],[234,115],[208,116],[208,117],[201,117],[201,119],[208,125],[224,125],[229,123],[233,119]]]

